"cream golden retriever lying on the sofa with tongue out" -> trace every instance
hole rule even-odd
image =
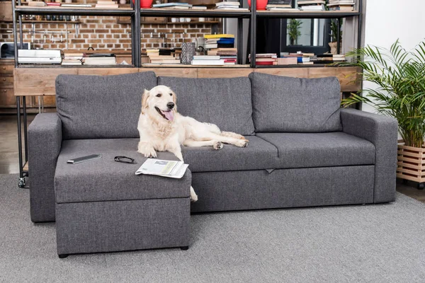
[[[176,99],[176,93],[168,86],[155,86],[150,91],[145,90],[137,124],[140,133],[137,152],[145,157],[157,157],[157,151],[170,151],[183,161],[181,145],[212,146],[219,150],[224,144],[239,147],[248,144],[248,140],[241,134],[222,132],[216,125],[180,115],[177,112]],[[198,200],[193,187],[191,200]]]

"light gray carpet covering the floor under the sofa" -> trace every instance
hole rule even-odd
[[[33,224],[28,190],[0,175],[1,282],[425,282],[425,205],[192,216],[191,248],[70,255]]]

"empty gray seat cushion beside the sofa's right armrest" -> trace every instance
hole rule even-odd
[[[344,132],[257,133],[278,149],[276,168],[375,164],[375,146]]]

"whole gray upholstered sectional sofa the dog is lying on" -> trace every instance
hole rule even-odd
[[[145,161],[136,152],[141,94],[157,84],[176,92],[181,114],[244,134],[249,146],[226,145],[220,151],[183,147],[190,171],[180,180],[135,175]],[[161,208],[170,214],[181,210],[176,215],[183,215],[189,207],[191,212],[217,212],[395,200],[397,122],[339,108],[340,86],[334,77],[295,79],[255,72],[233,79],[157,78],[153,72],[60,75],[56,91],[57,113],[39,114],[28,127],[34,222],[60,218],[60,226],[86,209],[79,217],[93,214],[95,219],[73,229],[90,230],[93,221],[112,217],[110,209],[142,209],[154,202],[163,202]],[[86,154],[103,157],[79,167],[66,163]],[[114,156],[130,156],[137,164],[114,162]],[[176,159],[167,152],[158,158]],[[193,204],[188,199],[190,184],[199,197]],[[142,212],[147,218],[151,213]],[[157,234],[188,230],[187,219],[159,217],[164,223],[157,224]],[[142,229],[132,225],[123,227]],[[89,241],[77,240],[74,245]],[[183,236],[174,242],[164,239],[158,247],[188,246]],[[79,252],[91,251],[96,248]],[[65,248],[60,253],[71,252]]]

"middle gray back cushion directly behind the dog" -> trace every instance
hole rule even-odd
[[[159,76],[158,85],[169,86],[177,97],[181,115],[209,122],[222,131],[254,134],[251,82],[247,77],[192,79]]]

